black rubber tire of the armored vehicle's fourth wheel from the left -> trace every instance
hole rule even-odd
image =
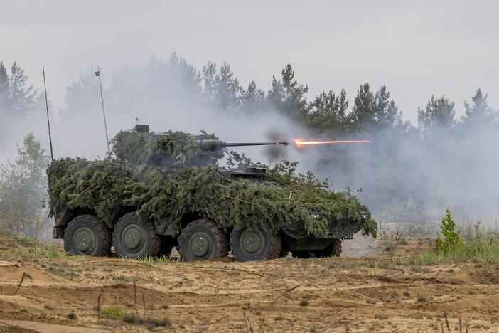
[[[241,248],[241,236],[247,228],[241,230],[234,229],[230,233],[230,250],[236,261],[251,261],[251,260],[272,260],[279,258],[281,254],[282,240],[279,233],[272,229],[269,223],[265,223],[264,228],[259,228],[259,231],[264,236],[264,244],[261,252],[250,255],[247,251]]]

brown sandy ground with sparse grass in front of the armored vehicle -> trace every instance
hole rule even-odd
[[[415,240],[252,263],[12,256],[23,246],[0,238],[0,332],[499,332],[498,265],[397,264],[427,248]],[[99,298],[144,322],[99,317]]]

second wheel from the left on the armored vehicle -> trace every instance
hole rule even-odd
[[[136,213],[127,213],[119,218],[112,233],[114,250],[122,258],[154,257],[159,253],[161,238],[154,223]]]

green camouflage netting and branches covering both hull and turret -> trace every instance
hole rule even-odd
[[[205,132],[200,137],[216,139]],[[362,218],[367,207],[348,191],[323,189],[310,172],[296,175],[296,163],[278,164],[264,179],[228,179],[217,166],[189,166],[200,153],[196,139],[183,132],[122,131],[104,161],[55,161],[48,169],[50,208],[94,211],[113,226],[129,206],[155,221],[159,233],[179,233],[182,218],[195,213],[225,230],[268,221],[294,238],[338,238],[359,230],[375,236],[375,221]],[[154,154],[169,154],[181,167],[147,165]],[[235,162],[252,165],[244,156],[229,164]]]

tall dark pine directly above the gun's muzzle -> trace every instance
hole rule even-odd
[[[306,101],[308,85],[299,85],[294,78],[294,69],[286,65],[281,71],[281,79],[272,77],[272,89],[268,99],[272,107],[298,122],[306,122],[310,107]]]

